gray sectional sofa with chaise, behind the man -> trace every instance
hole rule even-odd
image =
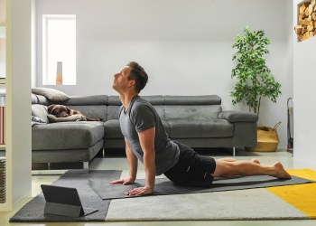
[[[256,114],[222,111],[217,95],[143,98],[156,108],[169,137],[191,147],[256,145]],[[49,123],[47,107],[56,103],[103,121]],[[120,106],[117,96],[70,97],[51,102],[32,94],[32,115],[48,122],[32,128],[33,163],[85,162],[87,165],[102,148],[123,148],[124,137],[118,122]]]

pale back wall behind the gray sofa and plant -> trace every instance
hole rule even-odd
[[[113,74],[128,61],[138,61],[150,75],[143,95],[218,94],[225,109],[247,110],[232,106],[229,93],[235,65],[231,46],[248,24],[272,39],[267,65],[283,85],[283,96],[277,104],[263,101],[259,124],[282,121],[284,147],[286,99],[293,96],[287,2],[36,0],[36,86],[42,87],[42,14],[77,14],[77,85],[50,87],[70,95],[116,95]]]

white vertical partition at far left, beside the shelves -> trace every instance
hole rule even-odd
[[[31,2],[32,0],[12,1],[12,55],[8,57],[8,61],[12,62],[12,69],[7,69],[10,70],[8,74],[12,74],[12,82],[7,83],[7,92],[10,92],[7,96],[10,96],[11,103],[8,101],[8,108],[5,109],[11,118],[9,123],[12,123],[12,130],[5,131],[5,134],[9,132],[7,138],[12,139],[12,143],[8,141],[12,144],[12,152],[6,152],[5,155],[12,156],[14,204],[25,198],[25,195],[30,197],[32,192]],[[10,35],[8,38],[10,39]]]

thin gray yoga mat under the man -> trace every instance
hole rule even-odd
[[[110,180],[89,179],[92,189],[103,200],[132,198],[139,196],[127,196],[125,191],[144,186],[145,180],[139,179],[135,184],[109,184]],[[156,178],[153,195],[181,194],[181,193],[210,193],[223,192],[251,188],[264,188],[292,184],[306,184],[313,181],[301,177],[292,176],[292,179],[277,179],[268,175],[240,176],[232,179],[215,178],[211,187],[189,187],[172,183],[167,178]]]

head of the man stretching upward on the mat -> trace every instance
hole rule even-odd
[[[115,80],[113,89],[119,93],[124,93],[125,90],[132,88],[136,93],[139,93],[148,81],[148,75],[144,69],[135,61],[131,61],[127,66],[114,75]]]

